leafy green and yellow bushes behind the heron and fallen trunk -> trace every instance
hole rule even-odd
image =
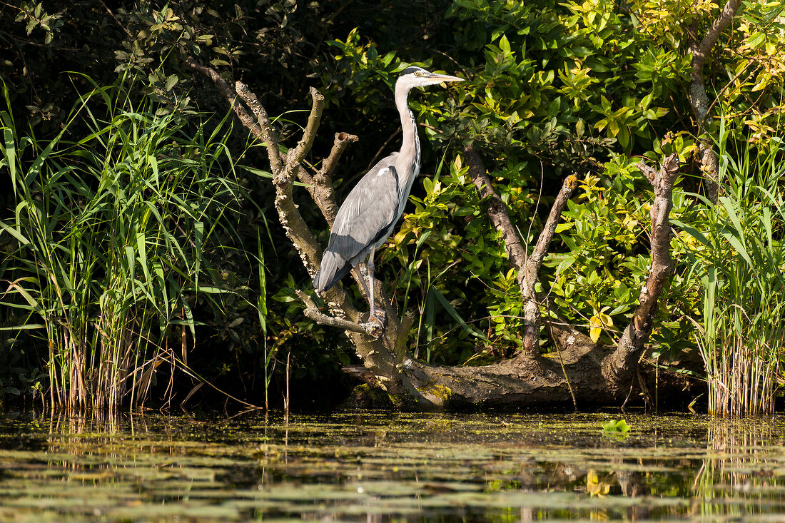
[[[336,174],[338,199],[382,151],[396,148],[399,122],[391,87],[408,64],[468,79],[449,90],[413,93],[422,123],[422,184],[415,184],[400,231],[379,256],[382,278],[401,310],[418,313],[411,346],[435,363],[480,364],[519,346],[520,293],[498,233],[466,174],[461,152],[478,148],[524,240],[533,244],[568,174],[582,181],[546,260],[542,291],[561,316],[611,343],[637,303],[648,273],[652,195],[636,165],[678,152],[684,167],[674,219],[700,229],[703,203],[696,162],[697,126],[688,99],[689,47],[717,16],[712,2],[19,2],[0,6],[0,74],[20,128],[53,137],[90,82],[135,79],[131,97],[155,102],[159,116],[195,125],[226,114],[214,86],[185,63],[210,64],[258,93],[283,136],[304,123],[309,86],[327,99],[311,163],[329,151],[333,132],[360,136]],[[782,115],[785,36],[780,2],[746,2],[703,71],[714,100],[707,133],[721,119],[753,155],[769,150]],[[360,22],[358,22],[360,20]],[[74,73],[82,74],[74,74]],[[88,81],[87,79],[90,79]],[[210,125],[210,124],[206,124]],[[68,133],[87,133],[71,126]],[[261,397],[290,355],[295,387],[339,378],[352,351],[340,333],[305,320],[294,289],[309,278],[272,210],[263,151],[235,130],[227,146],[245,173],[243,219],[233,248],[251,253],[219,268],[227,288],[248,299],[203,315],[191,364],[208,379]],[[242,166],[250,166],[243,170]],[[2,173],[2,171],[0,171]],[[0,174],[0,218],[13,212]],[[301,211],[327,241],[305,191]],[[0,245],[9,242],[0,235]],[[684,230],[673,242],[681,260],[696,248]],[[265,260],[265,271],[255,260]],[[228,258],[229,259],[229,258]],[[219,264],[220,265],[220,264]],[[9,269],[5,269],[8,272]],[[693,346],[690,318],[702,294],[678,265],[652,338],[661,361]],[[15,274],[0,278],[12,281]],[[255,298],[255,299],[254,299]],[[250,304],[256,304],[252,306]],[[260,313],[261,311],[261,313]],[[204,312],[204,311],[203,311]],[[0,309],[6,327],[16,318]],[[162,336],[165,336],[162,333]],[[38,342],[20,335],[2,349],[17,361],[3,383],[29,387],[41,363]],[[157,340],[162,345],[163,338]],[[19,347],[27,359],[19,360]],[[314,385],[316,384],[316,385]],[[35,385],[35,384],[34,384]],[[271,397],[278,397],[275,393]]]

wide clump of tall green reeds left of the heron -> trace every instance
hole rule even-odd
[[[209,251],[235,234],[225,121],[190,129],[130,92],[130,80],[94,86],[52,140],[0,113],[14,200],[0,235],[15,244],[0,305],[26,311],[20,328],[49,351],[49,401],[71,409],[144,402],[155,368],[175,363],[169,336],[195,335],[197,299],[224,292]]]

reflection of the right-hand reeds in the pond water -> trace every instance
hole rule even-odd
[[[782,444],[771,422],[738,420],[709,425],[709,447],[695,482],[693,515],[739,516],[769,505],[772,488],[785,482],[774,475]],[[741,503],[739,503],[741,502]]]

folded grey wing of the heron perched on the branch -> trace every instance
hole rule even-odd
[[[357,258],[384,241],[395,225],[401,189],[393,158],[388,156],[371,168],[341,203],[314,278],[319,291],[338,283],[360,261]]]

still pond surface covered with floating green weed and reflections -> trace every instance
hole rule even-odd
[[[0,418],[0,521],[785,521],[783,419]]]

